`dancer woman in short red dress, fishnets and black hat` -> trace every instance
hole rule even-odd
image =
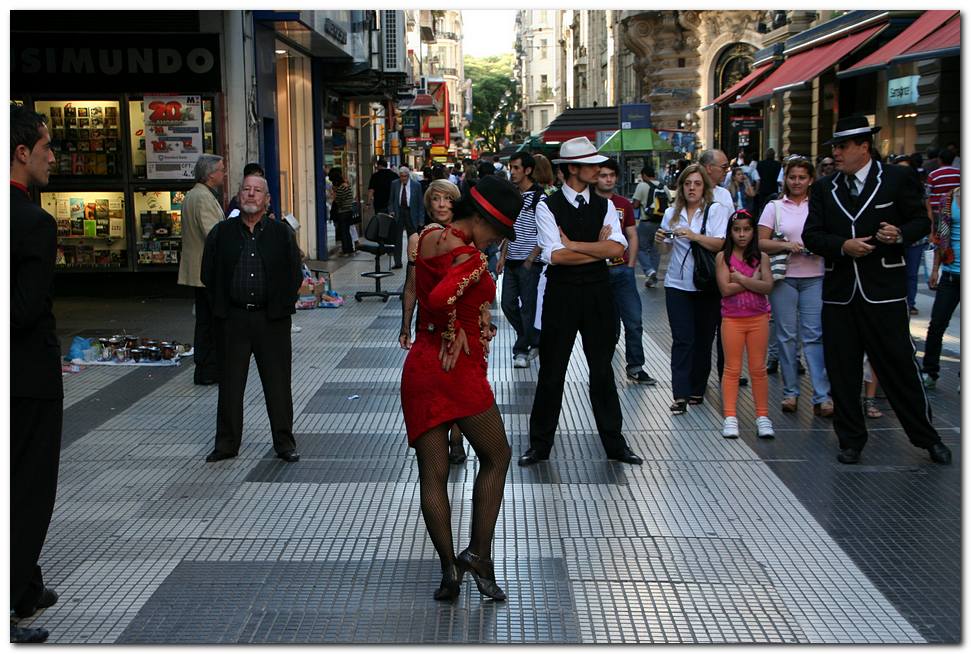
[[[401,408],[415,448],[421,512],[442,563],[435,599],[454,600],[465,572],[479,592],[506,599],[496,584],[492,539],[509,468],[509,441],[486,379],[496,294],[485,250],[513,230],[522,196],[512,183],[485,177],[455,204],[444,229],[426,228],[418,242],[415,286],[419,319],[401,375]],[[472,491],[472,539],[458,556],[448,501],[448,432],[458,423],[479,460]]]

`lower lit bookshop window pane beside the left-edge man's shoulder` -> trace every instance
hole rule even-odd
[[[128,267],[124,193],[41,193],[40,203],[57,221],[58,267]]]

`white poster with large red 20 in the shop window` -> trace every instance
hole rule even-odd
[[[145,159],[149,179],[192,179],[202,154],[202,99],[145,96]]]

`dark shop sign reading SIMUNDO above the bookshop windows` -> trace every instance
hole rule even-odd
[[[13,92],[219,91],[216,34],[10,35]]]

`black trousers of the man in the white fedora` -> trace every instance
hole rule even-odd
[[[600,441],[608,457],[623,453],[627,442],[621,433],[623,417],[610,363],[616,313],[607,280],[585,285],[547,282],[539,338],[539,380],[529,416],[529,444],[533,449],[547,453],[553,448],[566,370],[579,332],[590,369],[590,403]]]

